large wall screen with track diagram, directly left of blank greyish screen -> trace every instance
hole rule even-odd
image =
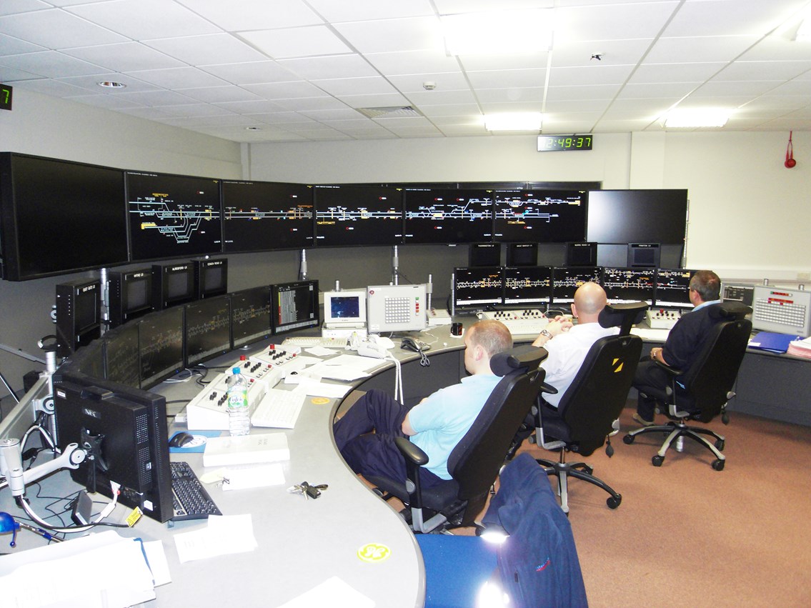
[[[586,237],[586,191],[495,191],[495,240],[567,242]]]

